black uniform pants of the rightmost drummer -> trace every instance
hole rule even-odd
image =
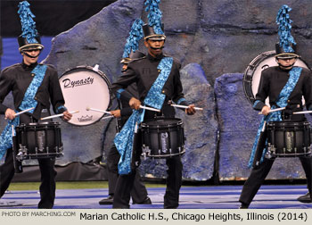
[[[259,164],[259,166],[252,169],[252,171],[250,172],[250,177],[246,180],[242,187],[242,193],[239,199],[242,204],[251,203],[253,197],[256,196],[260,186],[267,178],[267,174],[271,170],[274,161],[274,159],[265,159]],[[303,170],[306,173],[308,191],[311,194],[312,157],[300,157],[300,162],[302,164]]]

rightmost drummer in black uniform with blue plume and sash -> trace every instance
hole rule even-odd
[[[285,120],[306,121],[303,114],[292,114],[292,112],[302,111],[302,96],[305,98],[307,109],[312,109],[312,74],[307,69],[294,66],[294,63],[296,63],[297,58],[300,56],[295,52],[296,43],[293,41],[293,37],[291,37],[291,29],[289,29],[291,28],[288,16],[288,12],[290,11],[291,8],[283,5],[277,14],[276,21],[280,24],[279,34],[282,33],[281,30],[286,30],[289,33],[288,35],[280,36],[280,42],[275,45],[275,59],[278,66],[268,67],[262,71],[256,101],[253,104],[254,109],[261,111],[265,117],[259,126],[259,131],[250,155],[249,166],[251,167],[254,160],[259,160],[259,163],[253,166],[250,177],[242,187],[242,194],[239,199],[242,203],[240,208],[249,207],[275,161],[274,158],[269,159],[264,157],[267,151],[267,146],[265,146],[267,137],[261,138],[264,140],[264,147],[259,152],[261,159],[257,159],[255,156],[257,155],[257,146],[260,145],[259,135],[264,122]],[[283,27],[284,24],[285,27]],[[272,109],[285,107],[285,110],[269,112],[271,107],[265,104],[267,96]],[[312,158],[302,156],[300,157],[300,162],[306,173],[308,191],[311,194]]]

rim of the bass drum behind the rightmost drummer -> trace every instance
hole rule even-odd
[[[251,88],[251,85],[250,85],[250,89],[251,89],[251,95],[252,96],[249,96],[248,95],[248,91],[247,91],[247,87],[246,87],[246,84],[250,84],[252,83],[252,78],[253,78],[253,74],[254,74],[254,71],[255,71],[255,68],[257,68],[259,66],[259,63],[262,63],[265,59],[267,59],[267,57],[270,57],[272,56],[273,54],[275,54],[275,50],[271,50],[271,51],[267,51],[267,52],[264,52],[264,53],[261,53],[261,54],[258,54],[255,58],[253,58],[250,63],[248,64],[247,68],[245,69],[245,71],[243,72],[243,77],[242,77],[242,89],[243,89],[243,92],[244,92],[244,95],[246,96],[246,98],[248,99],[248,101],[250,102],[251,105],[254,104],[254,101],[256,100],[256,96],[253,95],[252,93],[252,88]],[[261,59],[262,60],[259,60]],[[311,71],[311,68],[309,67],[308,63],[303,60],[301,57],[300,57],[300,61],[302,61],[303,63],[306,64],[306,66],[308,67],[308,70]],[[253,67],[253,70],[251,70],[250,68]],[[247,73],[248,71],[252,71],[252,76],[249,76]],[[250,79],[247,79],[249,78]]]

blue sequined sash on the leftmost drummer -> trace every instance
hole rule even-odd
[[[38,87],[40,87],[42,80],[45,78],[45,71],[47,66],[38,64],[31,73],[34,73],[34,79],[32,79],[29,87],[27,88],[23,100],[19,109],[21,111],[29,109],[29,108],[36,108],[37,101],[35,100],[35,96],[37,93]],[[34,112],[34,109],[29,111]],[[0,159],[4,157],[6,150],[12,147],[12,126],[13,129],[17,125],[20,124],[20,117],[17,116],[14,120],[8,121],[8,124],[5,126],[4,131],[1,133],[0,136]]]

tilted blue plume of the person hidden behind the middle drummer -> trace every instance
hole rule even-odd
[[[144,37],[142,29],[143,23],[141,19],[136,19],[132,24],[122,58],[127,58],[131,51],[135,53],[135,51],[139,49],[139,41]]]

